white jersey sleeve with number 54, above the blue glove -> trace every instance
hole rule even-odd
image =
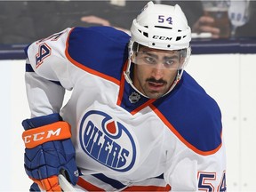
[[[28,45],[25,82],[31,117],[59,113],[71,90],[65,49],[71,28]]]

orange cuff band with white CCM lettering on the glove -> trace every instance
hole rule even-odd
[[[22,133],[26,148],[35,148],[47,141],[64,140],[70,137],[70,125],[64,121],[47,124]]]

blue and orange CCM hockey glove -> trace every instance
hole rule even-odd
[[[28,177],[46,191],[61,191],[58,175],[65,172],[68,180],[76,185],[78,170],[70,125],[59,114],[26,119],[22,125]]]

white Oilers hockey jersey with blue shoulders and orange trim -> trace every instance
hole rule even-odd
[[[76,188],[225,191],[220,108],[186,71],[158,100],[133,90],[129,39],[110,27],[67,28],[26,49],[32,117],[60,113],[71,124]]]

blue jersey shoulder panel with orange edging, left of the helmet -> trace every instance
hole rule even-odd
[[[90,68],[116,79],[128,58],[130,36],[111,27],[73,28],[66,55],[79,68]]]

